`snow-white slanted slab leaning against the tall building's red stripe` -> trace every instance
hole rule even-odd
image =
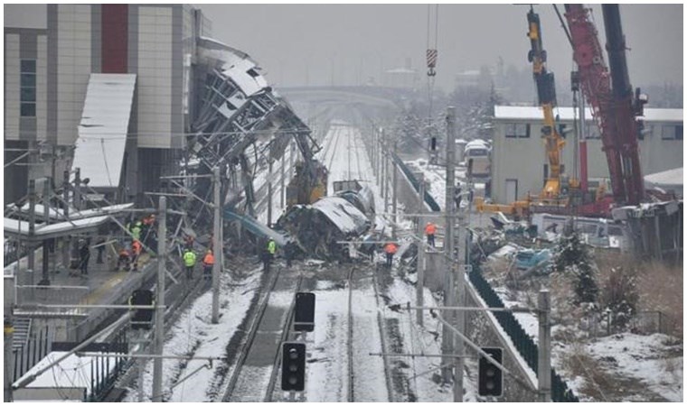
[[[135,74],[90,75],[72,168],[91,188],[119,186],[135,87]]]

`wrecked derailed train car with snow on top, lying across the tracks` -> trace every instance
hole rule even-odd
[[[372,189],[343,190],[320,198],[312,205],[296,205],[279,217],[277,228],[308,256],[322,259],[348,256],[349,241],[374,226]]]

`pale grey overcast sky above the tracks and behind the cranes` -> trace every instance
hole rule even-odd
[[[248,52],[281,86],[357,84],[409,59],[426,80],[428,5],[199,5],[214,37]],[[559,5],[563,13],[563,5]],[[605,45],[601,6],[593,5]],[[527,67],[529,5],[439,5],[437,84],[456,72],[495,65]],[[572,51],[552,5],[540,14],[549,69],[567,80]],[[633,86],[682,85],[682,5],[620,5]],[[434,21],[432,14],[431,21]],[[559,83],[558,86],[569,86]]]

